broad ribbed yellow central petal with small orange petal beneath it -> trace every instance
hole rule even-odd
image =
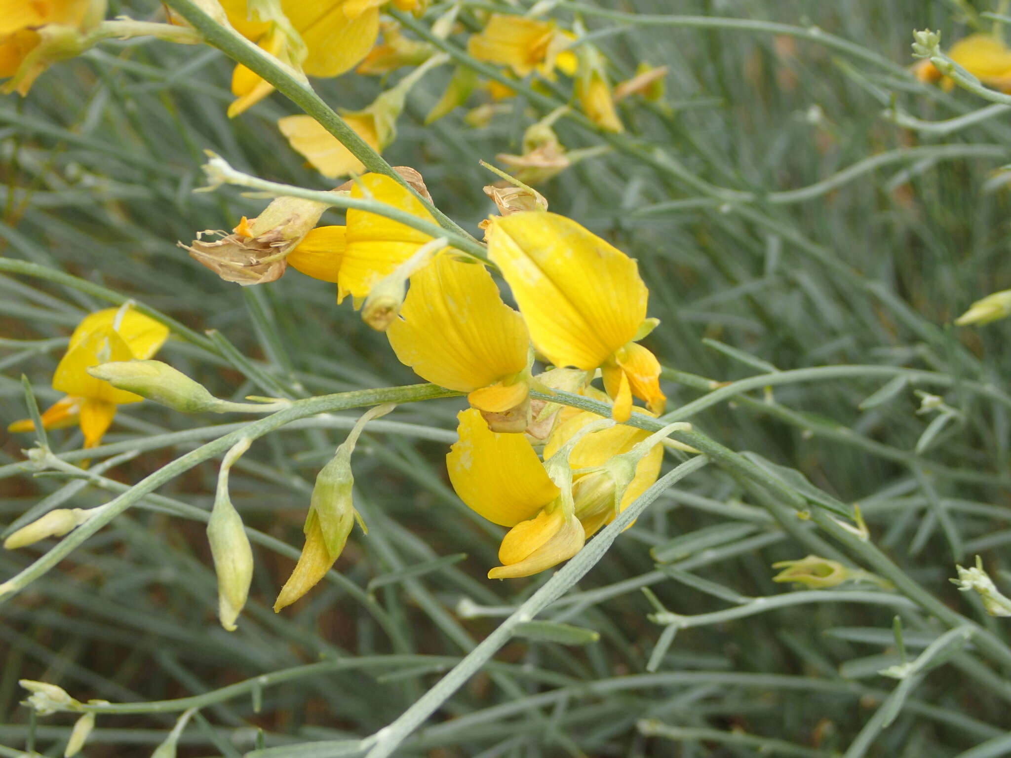
[[[525,385],[489,387],[527,368],[530,337],[480,264],[436,256],[410,277],[400,317],[386,335],[400,363],[423,379],[460,392],[488,387],[474,403],[484,410],[512,408],[526,396]]]

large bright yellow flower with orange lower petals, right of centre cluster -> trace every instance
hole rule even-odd
[[[663,410],[660,366],[634,341],[649,293],[636,262],[575,221],[526,211],[494,217],[488,256],[527,320],[537,350],[558,367],[604,372],[614,417],[628,420],[632,395]]]

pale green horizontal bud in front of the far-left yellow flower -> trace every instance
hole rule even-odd
[[[183,413],[216,411],[222,404],[202,384],[161,361],[114,361],[90,366],[87,371],[116,389],[133,392]]]

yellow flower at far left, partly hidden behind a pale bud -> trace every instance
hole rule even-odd
[[[76,420],[84,433],[84,447],[98,446],[112,423],[116,406],[144,398],[96,379],[86,369],[110,361],[147,360],[158,352],[168,337],[167,326],[128,305],[105,308],[87,316],[71,335],[67,353],[53,375],[53,388],[68,396],[42,414],[42,425],[59,429]],[[8,431],[30,432],[32,429],[30,420],[20,420],[12,423]]]

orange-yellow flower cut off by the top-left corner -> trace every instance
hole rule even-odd
[[[12,77],[3,91],[26,95],[50,64],[81,52],[81,32],[104,15],[104,0],[2,0],[0,79]]]

